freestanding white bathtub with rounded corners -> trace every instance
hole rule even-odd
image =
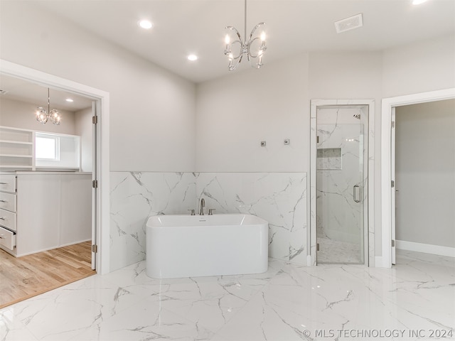
[[[269,224],[255,215],[156,215],[146,224],[146,274],[178,278],[260,274]]]

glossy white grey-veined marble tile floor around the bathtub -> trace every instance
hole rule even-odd
[[[5,341],[455,340],[454,328],[455,260],[408,251],[392,269],[270,259],[264,274],[168,280],[141,261],[0,310]]]

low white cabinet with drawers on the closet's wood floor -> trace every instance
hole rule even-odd
[[[91,239],[90,173],[17,172],[14,180],[17,194],[0,192],[10,205],[0,207],[1,249],[25,256]]]

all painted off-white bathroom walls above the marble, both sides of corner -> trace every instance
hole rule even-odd
[[[39,25],[23,25],[36,18]],[[380,113],[382,97],[455,87],[453,35],[382,52],[301,53],[196,92],[191,82],[31,2],[2,1],[0,19],[0,58],[110,93],[111,171],[309,173],[310,99],[375,99]],[[376,250],[380,119],[376,114]]]

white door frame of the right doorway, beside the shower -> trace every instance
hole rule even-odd
[[[398,97],[382,99],[381,117],[381,222],[382,222],[382,256],[376,257],[377,266],[390,268],[392,266],[392,235],[395,235],[395,222],[392,223],[392,112],[395,107],[403,105],[436,102],[455,98],[455,87],[407,94]],[[393,189],[395,190],[395,189]],[[392,231],[392,227],[394,231]]]

